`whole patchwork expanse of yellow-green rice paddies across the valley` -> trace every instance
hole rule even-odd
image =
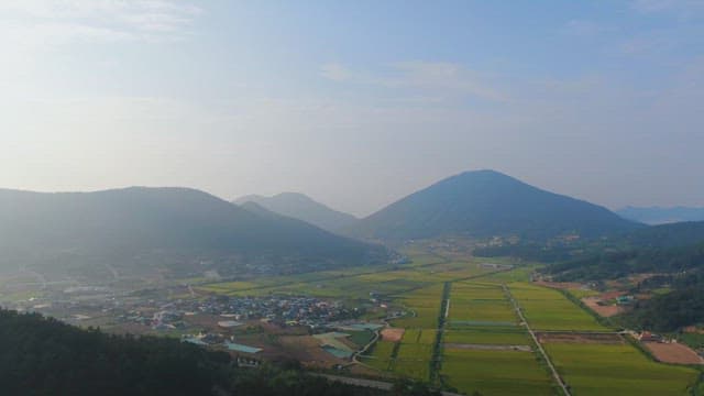
[[[345,301],[369,301],[372,295],[382,296],[408,314],[389,322],[395,328],[404,328],[405,333],[397,342],[376,342],[360,361],[385,375],[435,381],[436,385],[443,384],[468,395],[473,392],[487,396],[561,395],[526,327],[519,323],[504,285],[536,331],[575,334],[613,331],[560,292],[531,284],[531,274],[538,264],[496,271],[481,265],[488,260],[463,261],[457,256],[448,260],[436,251],[414,249],[406,250],[413,252],[413,262],[402,266],[326,271],[194,287],[230,296],[292,294]],[[510,263],[504,261],[496,262]],[[449,311],[440,344],[436,346],[446,283],[450,283]],[[360,339],[369,336],[361,334]],[[700,373],[686,366],[656,363],[627,342],[547,340],[543,346],[574,396],[686,395]],[[440,359],[437,366],[431,364],[433,348],[438,349]],[[436,367],[437,375],[433,375]]]

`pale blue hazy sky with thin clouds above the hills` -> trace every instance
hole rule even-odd
[[[2,1],[0,51],[4,188],[704,206],[704,0]]]

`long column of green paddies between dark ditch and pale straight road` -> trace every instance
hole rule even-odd
[[[498,282],[455,282],[450,293],[440,375],[459,392],[552,395],[549,373]],[[515,351],[513,345],[528,350]]]

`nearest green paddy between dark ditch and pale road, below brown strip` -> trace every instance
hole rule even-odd
[[[468,395],[554,395],[548,372],[530,352],[446,348],[440,373]]]

